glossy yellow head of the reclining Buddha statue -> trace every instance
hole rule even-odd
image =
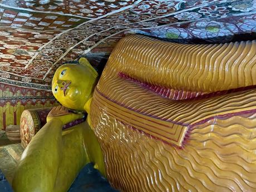
[[[97,77],[86,58],[80,58],[78,64],[62,65],[53,76],[53,95],[67,108],[89,112]]]

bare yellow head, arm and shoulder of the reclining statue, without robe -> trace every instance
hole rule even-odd
[[[53,95],[63,106],[88,113],[97,77],[86,58],[78,65],[62,65],[52,80]],[[90,162],[106,175],[99,142],[87,122],[62,131],[63,125],[84,116],[63,106],[53,108],[24,150],[12,183],[15,192],[66,192]]]

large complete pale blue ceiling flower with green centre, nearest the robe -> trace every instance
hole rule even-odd
[[[189,32],[194,38],[211,41],[212,38],[232,38],[238,28],[232,23],[197,21],[190,24]]]

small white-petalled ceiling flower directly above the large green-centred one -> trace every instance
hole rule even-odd
[[[225,16],[229,13],[227,7],[218,7],[218,6],[210,6],[210,7],[202,7],[198,11],[199,13],[203,13],[205,16],[208,17],[219,17]]]

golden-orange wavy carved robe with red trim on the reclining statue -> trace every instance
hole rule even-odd
[[[256,190],[256,41],[122,39],[91,124],[121,191]]]

